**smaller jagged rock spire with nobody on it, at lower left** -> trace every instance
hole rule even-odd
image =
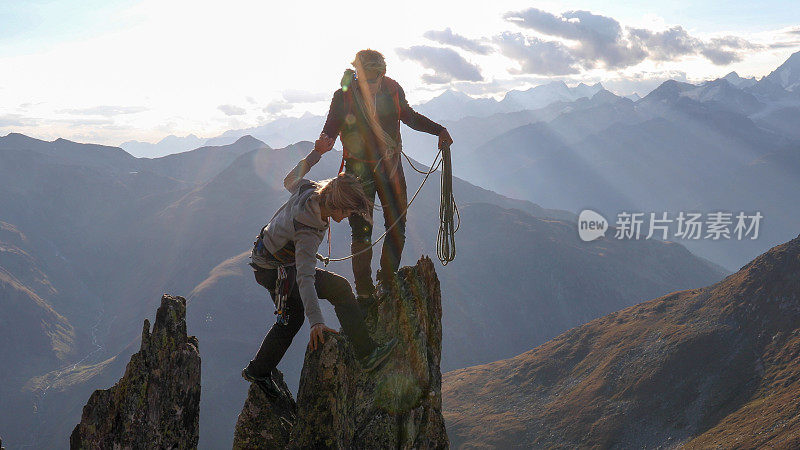
[[[165,294],[152,332],[144,321],[125,375],[84,406],[70,448],[196,448],[199,412],[197,338],[186,334],[186,300]]]

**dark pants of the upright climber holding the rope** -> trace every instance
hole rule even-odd
[[[396,162],[384,161],[377,167],[358,160],[347,160],[345,171],[357,176],[367,198],[375,201],[375,194],[381,201],[383,209],[383,226],[389,228],[398,221],[407,206],[406,178],[399,156]],[[353,253],[369,248],[372,244],[372,224],[363,217],[353,214],[349,218],[353,237],[350,250]],[[400,218],[386,238],[381,250],[381,273],[392,274],[400,267],[400,257],[406,242],[406,216]],[[369,295],[375,288],[372,284],[372,249],[353,257],[353,276],[356,280],[356,292]]]

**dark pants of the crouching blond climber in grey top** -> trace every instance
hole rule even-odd
[[[286,270],[294,271],[294,266],[289,266]],[[292,279],[295,277],[292,274]],[[256,268],[255,277],[258,284],[269,290],[270,296],[275,298],[275,281],[278,278],[277,269]],[[356,357],[369,355],[375,348],[375,343],[369,336],[367,325],[364,323],[364,316],[356,303],[350,283],[342,276],[333,272],[317,269],[314,278],[314,286],[317,288],[317,296],[327,299],[336,311],[336,317],[342,324],[342,331],[353,344],[353,352]],[[305,321],[303,302],[300,299],[300,291],[297,283],[292,287],[292,291],[287,299],[287,311],[289,321],[282,325],[275,323],[269,329],[261,348],[258,349],[255,358],[250,361],[250,373],[254,376],[266,376],[272,372],[289,345],[292,343],[294,335],[300,330]]]

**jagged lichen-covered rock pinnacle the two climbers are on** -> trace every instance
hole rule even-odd
[[[379,295],[365,313],[376,341],[398,338],[386,364],[362,373],[347,339],[328,334],[321,349],[306,351],[297,402],[285,384],[275,401],[250,387],[234,449],[449,446],[441,408],[441,291],[433,263],[423,257],[403,267],[397,283],[379,286]]]

